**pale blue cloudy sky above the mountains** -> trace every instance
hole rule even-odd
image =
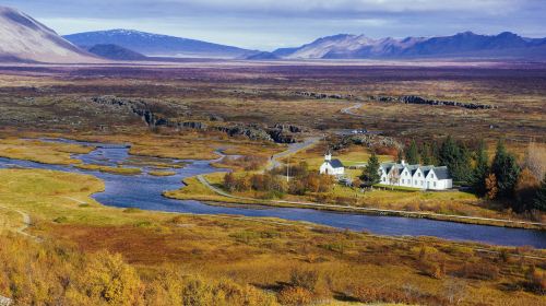
[[[546,0],[0,0],[59,34],[127,28],[274,50],[334,34],[546,37]]]

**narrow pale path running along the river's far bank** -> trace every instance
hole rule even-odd
[[[206,178],[204,178],[202,175],[198,176],[198,180],[206,186],[209,189],[212,191],[232,199],[237,199],[237,200],[251,200],[256,201],[258,199],[253,198],[246,198],[246,197],[237,197],[233,196],[228,192],[225,192],[224,190],[221,190],[214,186],[212,186]],[[263,200],[259,200],[263,201]],[[536,225],[541,227],[546,227],[546,224],[539,223],[539,222],[525,222],[525,221],[514,221],[514,220],[505,220],[505,219],[492,219],[492,217],[480,217],[480,216],[466,216],[466,215],[456,215],[456,214],[441,214],[441,213],[432,213],[432,212],[411,212],[411,211],[402,211],[402,210],[385,210],[385,209],[372,209],[372,208],[361,208],[361,207],[352,207],[352,205],[336,205],[336,204],[321,204],[321,203],[313,203],[313,202],[297,202],[297,201],[284,201],[284,200],[269,200],[268,202],[270,203],[277,203],[277,204],[295,204],[299,207],[305,207],[305,208],[323,208],[323,209],[336,209],[336,210],[348,210],[348,211],[354,211],[354,212],[371,212],[371,213],[377,213],[377,214],[395,214],[395,215],[402,215],[402,216],[416,216],[416,217],[426,217],[426,216],[431,216],[431,217],[448,217],[448,219],[454,219],[454,220],[463,220],[463,221],[487,221],[487,222],[502,222],[507,224],[519,224],[519,225]]]

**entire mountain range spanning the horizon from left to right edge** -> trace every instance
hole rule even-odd
[[[272,52],[133,30],[59,36],[17,10],[0,7],[0,61],[50,63],[164,60],[198,57],[247,60],[305,59],[515,59],[546,60],[546,38],[472,32],[440,37],[370,38],[339,34]],[[167,59],[165,59],[167,60]]]

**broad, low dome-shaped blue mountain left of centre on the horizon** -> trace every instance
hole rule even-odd
[[[133,30],[86,32],[63,37],[83,48],[114,44],[149,57],[241,58],[257,52],[232,46]]]

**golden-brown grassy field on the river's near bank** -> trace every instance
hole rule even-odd
[[[280,292],[294,282],[290,281],[294,271],[305,269],[317,275],[312,292],[321,301],[373,302],[379,294],[392,302],[447,305],[450,294],[455,294],[463,296],[463,305],[545,302],[544,296],[525,289],[524,278],[531,266],[543,273],[544,261],[518,257],[546,256],[542,250],[479,246],[502,250],[500,256],[476,251],[472,244],[377,237],[275,219],[114,209],[88,198],[102,188],[103,184],[92,176],[0,170],[0,203],[8,210],[31,214],[33,224],[28,233],[41,237],[46,244],[76,246],[76,251],[90,256],[104,249],[119,252],[146,285],[147,280],[162,271],[161,267],[176,264],[192,275],[210,280],[228,278],[240,285]],[[12,247],[13,240],[3,242],[3,247]],[[0,264],[11,264],[12,259]],[[35,264],[46,259],[38,257]],[[3,295],[19,296],[10,290],[17,287],[13,281],[0,278]],[[462,286],[452,289],[448,285],[451,283]],[[49,285],[54,286],[55,281]],[[379,293],[373,292],[377,289]],[[54,295],[62,294],[66,293]],[[47,295],[34,298],[40,301]]]

